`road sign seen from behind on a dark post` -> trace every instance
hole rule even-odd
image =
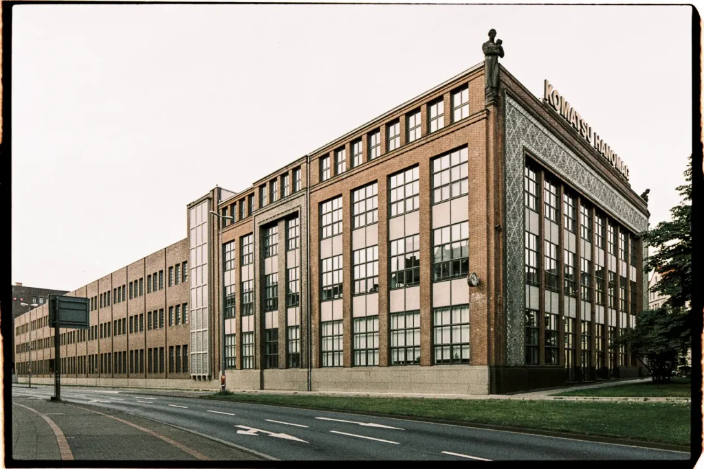
[[[61,401],[61,328],[87,329],[89,323],[88,298],[49,295],[49,326],[54,326],[54,396]]]

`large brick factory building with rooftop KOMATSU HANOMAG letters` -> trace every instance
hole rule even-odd
[[[646,202],[552,86],[541,101],[490,67],[190,203],[187,238],[69,293],[95,329],[62,333],[65,382],[215,388],[224,366],[230,389],[487,394],[638,375],[612,345],[648,301]],[[20,346],[46,314],[15,321]]]

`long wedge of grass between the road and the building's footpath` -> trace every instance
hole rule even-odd
[[[209,394],[203,399],[381,413],[689,446],[688,403]]]

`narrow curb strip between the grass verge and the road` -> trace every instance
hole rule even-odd
[[[501,432],[524,433],[527,435],[539,435],[539,436],[543,436],[543,437],[579,439],[579,440],[588,441],[588,442],[620,444],[620,445],[625,445],[625,446],[639,446],[641,448],[663,449],[665,451],[677,451],[677,452],[684,452],[684,453],[691,454],[691,449],[689,446],[682,446],[679,444],[644,442],[644,441],[635,440],[635,439],[602,437],[602,436],[598,436],[598,435],[582,435],[582,434],[578,434],[578,433],[555,432],[555,431],[550,431],[550,430],[536,430],[536,429],[532,429],[532,428],[510,427],[510,426],[503,426],[503,425],[489,425],[489,424],[485,424],[485,423],[462,422],[462,421],[458,421],[458,420],[440,420],[440,419],[415,417],[415,416],[400,416],[400,415],[389,414],[389,413],[348,411],[348,410],[344,410],[344,409],[321,409],[320,407],[296,406],[296,405],[292,405],[292,404],[259,403],[259,402],[244,401],[244,400],[238,400],[238,399],[216,399],[213,397],[200,397],[199,399],[208,399],[211,401],[220,401],[220,402],[231,401],[231,402],[239,402],[241,404],[256,404],[256,405],[263,405],[263,406],[291,407],[294,409],[306,409],[306,410],[311,410],[311,411],[349,413],[351,415],[394,418],[397,420],[410,420],[410,421],[425,422],[425,423],[440,423],[442,425],[455,425],[455,426],[459,426],[459,427],[480,428],[482,430],[496,430],[496,431],[501,431]]]

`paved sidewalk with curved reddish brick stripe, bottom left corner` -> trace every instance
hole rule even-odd
[[[263,459],[170,425],[84,404],[13,397],[15,460],[233,461]]]

